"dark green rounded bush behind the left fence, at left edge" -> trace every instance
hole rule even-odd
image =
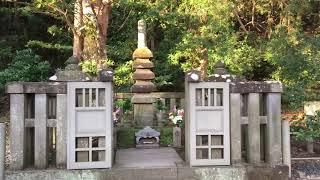
[[[11,81],[46,81],[50,65],[30,49],[17,51],[8,68],[0,71],[0,85]]]

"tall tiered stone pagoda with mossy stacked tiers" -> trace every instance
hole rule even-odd
[[[155,75],[150,70],[154,67],[150,59],[152,52],[146,45],[146,23],[138,22],[138,48],[133,52],[133,79],[135,84],[131,87],[134,93],[131,102],[134,105],[134,121],[138,126],[153,126],[154,108],[151,92],[155,85],[151,82]]]

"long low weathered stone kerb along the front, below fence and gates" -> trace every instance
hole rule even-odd
[[[113,168],[93,170],[26,170],[6,171],[6,180],[287,180],[288,168],[227,166],[227,167],[158,167]]]

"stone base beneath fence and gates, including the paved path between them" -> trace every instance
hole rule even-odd
[[[287,180],[288,167],[189,167],[173,148],[123,149],[111,169],[6,170],[6,180]]]

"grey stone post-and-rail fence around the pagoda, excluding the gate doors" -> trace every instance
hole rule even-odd
[[[28,166],[65,167],[67,127],[66,83],[11,83],[11,169]],[[280,83],[230,83],[231,164],[267,162],[290,166],[288,122],[281,120]],[[184,108],[184,93],[155,92],[166,107]],[[132,97],[115,93],[115,99]]]

